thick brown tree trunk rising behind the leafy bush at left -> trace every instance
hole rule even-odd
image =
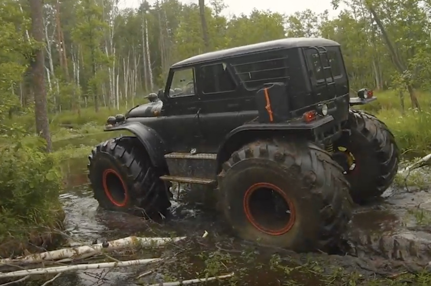
[[[32,36],[41,43],[44,41],[43,3],[42,0],[30,0]],[[36,132],[47,141],[47,152],[51,152],[51,137],[48,122],[47,95],[44,82],[44,49],[35,52],[31,63],[34,89],[34,113],[36,115]]]

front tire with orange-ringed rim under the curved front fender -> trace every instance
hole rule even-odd
[[[100,143],[88,156],[88,178],[100,207],[157,218],[171,206],[169,187],[140,146],[136,137]]]

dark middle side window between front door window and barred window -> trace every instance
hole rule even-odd
[[[236,84],[225,63],[204,65],[200,68],[203,93],[221,93],[233,91]]]

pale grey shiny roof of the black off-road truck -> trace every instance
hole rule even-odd
[[[328,47],[328,46],[340,46],[333,40],[324,38],[283,38],[279,40],[272,40],[268,42],[262,42],[258,44],[251,44],[247,46],[234,47],[225,50],[219,50],[209,53],[203,53],[191,58],[184,59],[181,62],[177,62],[172,65],[172,68],[178,68],[186,65],[194,65],[200,62],[209,62],[217,59],[225,59],[228,57],[240,56],[247,53],[262,52],[265,50],[278,50],[278,49],[290,49],[297,47]]]

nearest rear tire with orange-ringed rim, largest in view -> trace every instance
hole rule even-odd
[[[218,179],[219,208],[245,240],[328,251],[350,221],[342,169],[310,142],[250,143],[231,155]]]

